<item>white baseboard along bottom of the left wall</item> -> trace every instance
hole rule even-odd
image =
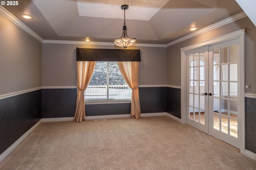
[[[38,121],[33,127],[31,127],[24,135],[22,135],[16,142],[14,142],[8,149],[6,149],[1,155],[0,155],[0,162],[12,152],[32,131],[34,131],[42,122],[42,119]]]

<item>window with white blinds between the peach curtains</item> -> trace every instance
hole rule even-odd
[[[130,100],[132,90],[126,84],[117,62],[98,61],[85,90],[85,100]]]

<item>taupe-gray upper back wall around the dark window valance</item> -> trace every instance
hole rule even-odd
[[[79,48],[118,48],[102,45],[42,45],[42,86],[77,86],[76,47]],[[166,48],[129,47],[140,49],[140,85],[166,84]]]

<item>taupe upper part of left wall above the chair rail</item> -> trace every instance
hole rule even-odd
[[[42,43],[0,15],[0,95],[42,85]]]

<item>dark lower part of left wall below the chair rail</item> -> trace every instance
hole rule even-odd
[[[42,90],[0,100],[0,154],[42,118],[41,110]]]

